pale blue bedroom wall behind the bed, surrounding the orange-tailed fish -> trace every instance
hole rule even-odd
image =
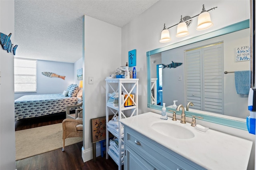
[[[66,76],[65,80],[58,77],[47,77],[42,74],[42,72],[45,72],[45,71]],[[36,76],[37,76],[37,80],[36,80],[37,92],[36,93],[15,93],[14,99],[18,99],[23,95],[63,93],[63,91],[66,90],[70,84],[76,83],[76,81],[74,81],[74,63],[37,60]]]

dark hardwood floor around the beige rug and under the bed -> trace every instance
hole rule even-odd
[[[41,127],[62,123],[65,119],[65,113],[55,116],[46,116],[42,118],[34,118],[16,121],[15,130],[24,130],[27,128]],[[40,147],[40,146],[38,146]],[[61,149],[53,150],[29,158],[16,161],[17,170],[116,170],[118,166],[109,156],[102,158],[98,156],[96,162],[89,160],[83,162],[82,142],[65,147],[65,152]]]

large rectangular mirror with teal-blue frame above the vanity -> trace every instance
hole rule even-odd
[[[148,51],[148,107],[161,110],[162,103],[166,103],[167,110],[175,110],[173,101],[184,107],[193,101],[194,106],[190,106],[186,116],[201,116],[204,121],[246,130],[246,116],[250,115],[248,95],[236,91],[234,72],[248,71],[245,86],[250,87],[250,62],[249,20]],[[216,92],[218,101],[215,97],[211,99]]]

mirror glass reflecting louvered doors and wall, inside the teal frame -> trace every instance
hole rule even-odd
[[[235,53],[237,47],[249,44],[250,29],[247,28],[151,55],[151,81],[156,79],[156,87],[151,87],[156,103],[152,104],[166,103],[172,108],[173,101],[177,101],[176,105],[192,101],[191,110],[245,119],[248,95],[238,94],[235,73],[224,74],[224,71],[250,71],[250,61],[236,62]],[[159,67],[172,61],[183,64],[176,68]],[[159,70],[162,71],[162,86]]]

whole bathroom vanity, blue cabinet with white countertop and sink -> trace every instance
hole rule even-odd
[[[162,120],[152,112],[119,122],[124,125],[126,170],[247,169],[250,140],[213,129],[202,132],[188,122]]]

